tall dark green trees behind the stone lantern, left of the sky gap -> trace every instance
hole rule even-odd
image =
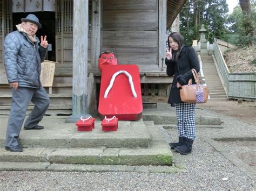
[[[197,6],[199,11],[198,27],[194,26],[195,15],[194,6]],[[180,33],[186,39],[186,44],[191,44],[192,40],[199,40],[201,24],[207,29],[206,38],[213,43],[213,38],[221,38],[224,35],[225,21],[227,17],[226,0],[189,0],[180,12]]]

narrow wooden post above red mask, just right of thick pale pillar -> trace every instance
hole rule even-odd
[[[93,68],[98,67],[98,58],[100,54],[100,6],[100,0],[92,1],[91,65]]]

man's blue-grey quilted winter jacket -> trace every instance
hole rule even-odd
[[[8,82],[18,82],[19,87],[41,87],[41,62],[47,48],[33,44],[25,33],[14,31],[4,40],[4,64]]]

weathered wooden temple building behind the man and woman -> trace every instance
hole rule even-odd
[[[139,66],[143,104],[154,107],[166,102],[169,94],[172,79],[166,76],[164,63],[167,29],[185,2],[0,0],[0,41],[3,45],[5,36],[29,13],[39,18],[43,28],[37,36],[48,36],[50,44],[46,59],[57,62],[49,109],[72,109],[73,116],[84,114],[86,108],[97,110],[98,57],[106,50],[117,55],[118,64]],[[0,62],[3,67],[3,46]]]

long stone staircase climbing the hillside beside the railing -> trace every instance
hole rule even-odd
[[[213,56],[208,53],[200,53],[203,62],[203,72],[208,89],[210,90],[210,99],[208,101],[225,101],[227,96],[220,81]]]

